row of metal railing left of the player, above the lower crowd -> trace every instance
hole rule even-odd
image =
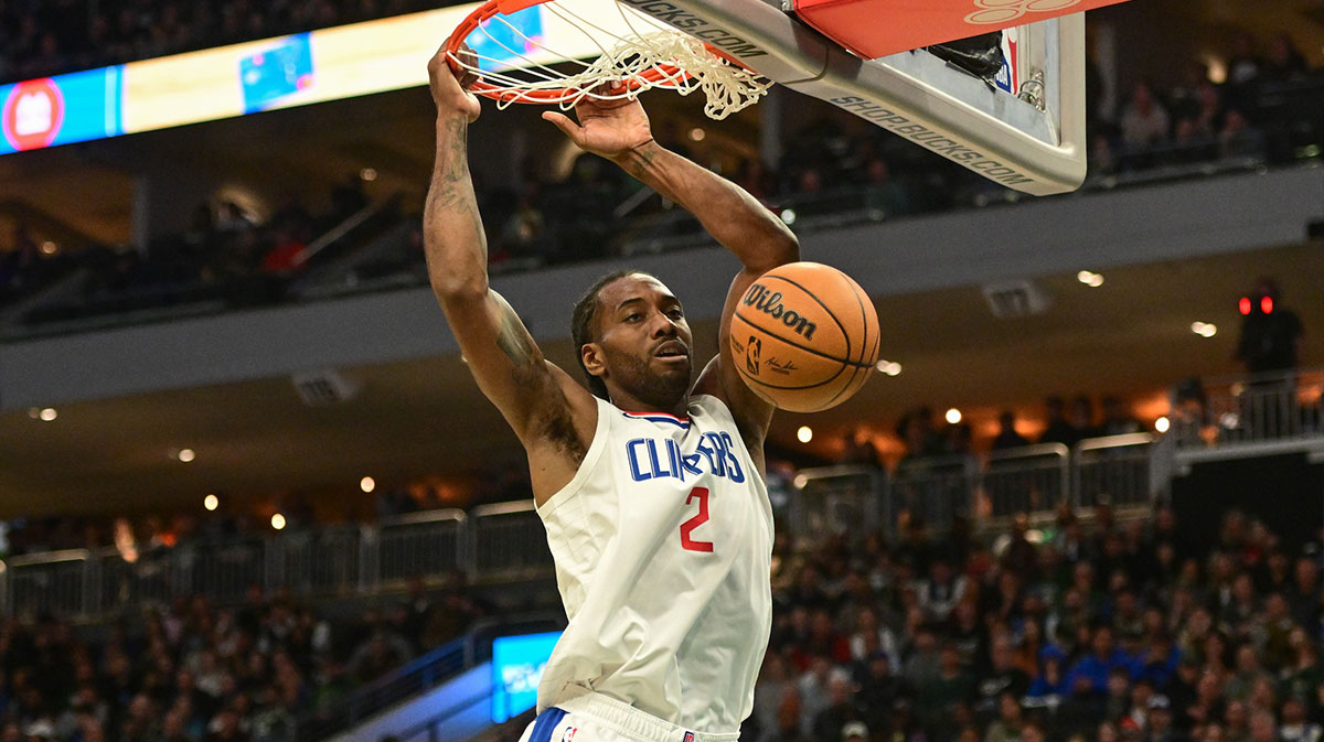
[[[13,557],[0,562],[0,615],[98,620],[189,595],[233,604],[253,586],[298,597],[343,597],[402,589],[416,578],[445,579],[455,571],[475,581],[551,574],[532,503],[474,513],[473,521],[463,511],[444,509],[372,526],[199,538],[143,552],[103,548]],[[504,545],[479,548],[475,540]]]

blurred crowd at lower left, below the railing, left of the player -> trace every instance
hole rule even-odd
[[[301,718],[463,636],[462,577],[332,619],[289,594],[179,599],[113,626],[0,618],[3,742],[293,742]]]

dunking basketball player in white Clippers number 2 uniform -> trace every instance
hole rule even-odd
[[[572,317],[591,393],[543,358],[489,287],[466,157],[478,101],[442,53],[429,73],[438,108],[424,214],[432,286],[478,386],[528,454],[569,616],[523,739],[733,741],[771,627],[763,443],[772,407],[737,377],[727,336],[745,288],[798,259],[796,238],[748,193],[659,147],[637,102],[583,102],[577,123],[543,114],[694,213],[744,266],[718,357],[696,380],[679,299],[650,275],[601,279]]]

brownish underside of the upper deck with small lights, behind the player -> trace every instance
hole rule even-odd
[[[1307,328],[1303,365],[1324,366],[1324,245],[1264,249],[1201,261],[1111,270],[1088,288],[1074,275],[1043,279],[1051,307],[997,319],[980,287],[879,300],[886,356],[847,405],[817,415],[780,414],[775,452],[830,459],[839,435],[865,426],[891,452],[896,419],[919,403],[961,409],[978,435],[1002,407],[1037,418],[1050,393],[1116,393],[1153,419],[1165,390],[1186,376],[1237,372],[1235,300],[1259,275],[1280,279]],[[1214,323],[1213,339],[1190,331]],[[714,348],[711,324],[696,328]],[[567,344],[547,348],[572,365]],[[0,415],[0,518],[54,512],[140,512],[195,507],[209,492],[275,503],[282,493],[355,495],[426,475],[461,483],[523,467],[518,443],[455,357],[346,369],[351,401],[305,406],[289,378],[69,405],[53,422],[25,410]],[[800,426],[814,429],[809,446]],[[193,448],[196,459],[171,458]],[[368,508],[371,512],[371,507]]]

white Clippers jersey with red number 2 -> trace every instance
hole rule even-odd
[[[772,626],[772,507],[715,397],[688,419],[598,399],[575,479],[538,509],[569,626],[538,708],[602,693],[674,725],[737,731]]]

